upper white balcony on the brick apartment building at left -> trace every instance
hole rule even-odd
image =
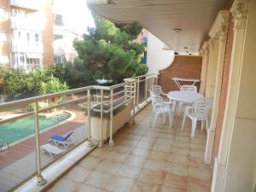
[[[38,20],[32,20],[24,16],[12,16],[11,17],[11,28],[12,29],[25,29],[41,32],[43,26]]]

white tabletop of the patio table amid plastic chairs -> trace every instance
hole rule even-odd
[[[177,91],[171,91],[168,93],[167,97],[170,100],[175,100],[177,102],[195,102],[197,99],[204,98],[201,93],[196,93],[195,91],[190,91],[190,90],[177,90]]]

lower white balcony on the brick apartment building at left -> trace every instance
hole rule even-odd
[[[38,42],[13,41],[12,52],[43,54],[44,47],[42,43],[38,43]]]

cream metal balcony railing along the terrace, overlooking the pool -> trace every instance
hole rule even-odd
[[[109,144],[113,145],[115,111],[122,110],[121,108],[129,105],[131,106],[131,116],[129,116],[133,119],[137,111],[149,102],[148,90],[151,85],[157,84],[157,79],[157,74],[143,75],[125,79],[125,83],[113,86],[93,85],[15,102],[0,103],[0,132],[1,129],[4,131],[4,125],[11,129],[14,125],[10,123],[14,122],[18,126],[14,128],[11,135],[24,135],[24,132],[30,131],[19,140],[9,143],[9,149],[5,146],[3,152],[0,152],[5,153],[4,157],[0,156],[0,175],[3,177],[1,180],[4,181],[3,183],[0,181],[0,190],[14,189],[18,184],[24,183],[26,178],[32,176],[37,176],[38,184],[43,185],[45,183],[44,175],[42,175],[44,168],[60,160],[62,155],[67,154],[80,143],[86,142],[89,146],[94,143],[102,147],[105,142],[103,121],[106,117],[109,119]],[[100,124],[97,126],[100,130],[99,140],[92,140],[91,137],[91,119],[95,113],[100,119]],[[47,121],[53,117],[56,117],[54,120],[58,123],[57,125],[44,123],[44,120]],[[28,123],[29,120],[31,123]],[[24,126],[27,129],[21,130]],[[42,146],[44,147],[49,142],[49,137],[66,135],[69,132],[73,132],[75,138],[72,147],[63,147],[63,153],[57,158],[55,156],[46,158]],[[6,135],[6,137],[11,136]],[[15,170],[20,170],[20,172]],[[9,175],[15,175],[15,178]],[[11,182],[6,182],[10,179],[12,179]]]

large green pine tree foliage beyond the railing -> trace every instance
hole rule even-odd
[[[84,41],[75,41],[79,59],[90,79],[85,84],[95,84],[96,79],[123,79],[147,73],[148,67],[141,64],[143,44],[133,40],[142,30],[138,23],[114,24],[110,20],[95,17],[96,28],[89,28]],[[80,71],[81,72],[81,71]]]

